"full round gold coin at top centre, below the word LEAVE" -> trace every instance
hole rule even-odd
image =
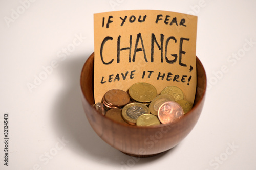
[[[157,96],[157,89],[149,83],[135,83],[129,88],[129,95],[134,101],[149,103]]]

